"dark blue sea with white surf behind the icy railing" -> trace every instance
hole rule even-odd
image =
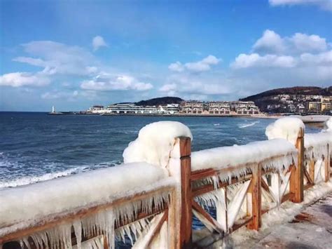
[[[116,166],[139,130],[156,121],[186,124],[193,133],[192,149],[198,151],[266,140],[265,128],[275,120],[0,112],[0,189]],[[308,127],[306,132],[319,130]]]

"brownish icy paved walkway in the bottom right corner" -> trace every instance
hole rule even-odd
[[[332,192],[256,240],[235,248],[332,248]]]

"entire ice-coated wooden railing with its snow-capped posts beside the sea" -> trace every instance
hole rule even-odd
[[[324,157],[329,180],[331,136],[304,128],[279,119],[266,129],[269,140],[191,153],[188,127],[152,123],[125,149],[123,166],[1,190],[0,245],[114,248],[122,238],[134,248],[189,248],[193,215],[221,236],[258,230],[263,213],[303,201],[315,183],[305,154]]]

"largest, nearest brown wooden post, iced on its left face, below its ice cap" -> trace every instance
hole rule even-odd
[[[177,180],[168,212],[169,248],[191,248],[191,138],[178,137],[170,155],[170,175]]]

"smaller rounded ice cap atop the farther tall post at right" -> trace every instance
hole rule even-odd
[[[305,130],[303,121],[296,117],[288,116],[282,119],[277,119],[277,121],[271,123],[266,128],[265,135],[269,140],[273,138],[284,138],[295,144],[300,129]]]

